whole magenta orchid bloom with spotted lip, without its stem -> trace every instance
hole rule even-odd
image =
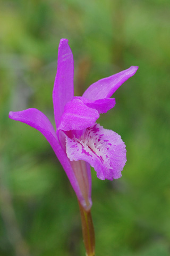
[[[121,71],[89,86],[82,97],[74,97],[73,54],[67,39],[58,48],[53,104],[56,130],[36,108],[10,112],[9,117],[40,131],[52,146],[84,210],[91,208],[90,165],[101,180],[121,177],[126,149],[121,136],[96,123],[100,113],[115,106],[113,93],[138,67]]]

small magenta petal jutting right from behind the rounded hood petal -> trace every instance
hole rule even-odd
[[[99,100],[89,100],[84,97],[74,97],[74,98],[81,99],[84,102],[84,104],[86,104],[87,107],[96,109],[99,114],[106,113],[108,110],[112,109],[116,104],[116,101],[113,98],[112,99],[105,98],[105,99],[99,99]]]

